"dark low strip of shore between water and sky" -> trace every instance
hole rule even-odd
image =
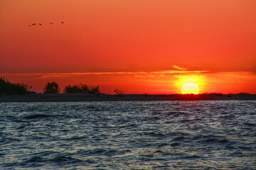
[[[27,94],[1,95],[0,102],[55,102],[55,101],[256,101],[256,94]]]

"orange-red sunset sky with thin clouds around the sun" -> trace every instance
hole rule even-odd
[[[38,92],[173,94],[194,81],[256,94],[256,1],[0,0],[0,60],[0,76]]]

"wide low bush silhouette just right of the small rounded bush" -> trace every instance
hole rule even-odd
[[[100,92],[100,86],[87,86],[86,84],[68,85],[63,90],[65,94],[72,93],[85,93],[85,94],[102,94]]]

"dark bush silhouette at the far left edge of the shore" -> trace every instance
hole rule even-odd
[[[4,77],[0,77],[0,94],[36,94],[34,91],[29,91],[32,86],[23,83],[11,83]]]

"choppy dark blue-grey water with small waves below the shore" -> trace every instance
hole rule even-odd
[[[0,103],[0,169],[256,169],[256,101]]]

